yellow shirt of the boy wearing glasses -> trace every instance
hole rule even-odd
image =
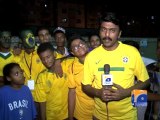
[[[75,58],[69,66],[68,86],[76,90],[74,117],[78,120],[92,120],[94,100],[82,91],[83,64]]]

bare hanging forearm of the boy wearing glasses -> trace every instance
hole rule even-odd
[[[75,88],[69,88],[69,93],[68,93],[68,117],[69,117],[69,120],[73,120],[75,104],[76,104]]]

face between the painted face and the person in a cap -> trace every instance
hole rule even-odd
[[[40,43],[50,42],[51,35],[49,34],[48,30],[42,29],[38,32],[38,38],[40,40]]]

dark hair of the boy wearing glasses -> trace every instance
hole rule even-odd
[[[79,34],[73,34],[70,38],[69,38],[69,42],[68,42],[68,50],[71,52],[71,44],[75,39],[80,39],[82,41],[85,42],[85,40],[79,35]]]

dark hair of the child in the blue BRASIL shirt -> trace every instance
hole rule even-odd
[[[7,80],[7,77],[10,76],[11,71],[15,66],[19,66],[19,64],[18,63],[9,63],[9,64],[6,64],[4,66],[4,68],[3,68],[3,79],[4,79],[4,84],[5,85],[10,84],[10,81]]]

